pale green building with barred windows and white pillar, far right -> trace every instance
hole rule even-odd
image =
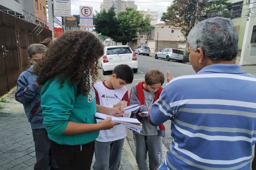
[[[229,0],[232,2],[230,9],[230,14],[234,17],[232,21],[239,35],[239,52],[235,64],[256,65],[256,5],[254,1]]]

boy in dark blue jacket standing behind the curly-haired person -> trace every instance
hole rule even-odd
[[[28,59],[33,66],[42,60],[46,54],[46,46],[31,44],[28,47]],[[58,169],[50,150],[50,139],[43,124],[41,103],[41,87],[36,84],[38,76],[33,75],[34,67],[30,67],[18,78],[15,100],[23,104],[28,121],[30,122],[36,150],[35,170]]]

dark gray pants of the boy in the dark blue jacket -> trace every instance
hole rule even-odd
[[[52,158],[50,139],[45,129],[32,129],[36,150],[36,164],[34,170],[57,169],[58,166]]]

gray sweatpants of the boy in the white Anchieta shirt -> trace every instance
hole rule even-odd
[[[118,170],[120,166],[123,139],[112,142],[98,142],[95,140],[94,170]]]

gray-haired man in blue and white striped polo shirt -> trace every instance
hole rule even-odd
[[[256,142],[256,77],[233,64],[238,34],[230,19],[206,19],[188,35],[195,75],[172,79],[148,113],[171,120],[163,169],[250,169]]]

